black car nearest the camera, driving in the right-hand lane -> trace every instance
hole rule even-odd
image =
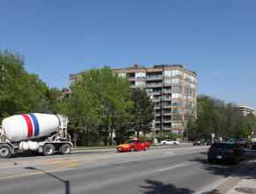
[[[237,164],[240,160],[245,160],[245,149],[237,142],[216,142],[209,147],[207,159],[210,163],[226,161]]]

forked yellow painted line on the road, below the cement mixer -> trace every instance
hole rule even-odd
[[[94,159],[92,159],[94,160]],[[46,173],[46,172],[51,172],[51,171],[55,171],[55,170],[59,170],[59,169],[63,169],[63,168],[70,168],[79,164],[83,164],[86,163],[88,161],[92,161],[92,160],[86,160],[86,161],[81,161],[81,162],[42,162],[41,164],[70,164],[68,166],[64,166],[64,167],[60,167],[60,168],[53,168],[53,169],[49,169],[49,170],[41,170],[40,172],[34,172],[34,173],[26,173],[26,174],[22,174],[22,175],[10,175],[10,176],[5,176],[5,177],[0,177],[0,180],[2,179],[7,179],[7,178],[14,178],[14,177],[20,177],[20,176],[25,176],[25,175],[36,175],[36,174],[42,174],[42,173]]]

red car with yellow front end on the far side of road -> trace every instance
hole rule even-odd
[[[133,152],[137,150],[147,151],[148,148],[150,148],[149,142],[145,141],[142,138],[137,138],[137,139],[129,139],[124,144],[117,146],[117,151],[119,153],[129,152],[129,151]]]

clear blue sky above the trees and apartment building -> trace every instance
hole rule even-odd
[[[198,94],[256,109],[255,0],[1,0],[0,48],[49,87],[69,75],[180,63]]]

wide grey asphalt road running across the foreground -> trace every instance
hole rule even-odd
[[[194,193],[256,159],[256,151],[248,149],[238,165],[212,165],[207,148],[180,145],[135,153],[94,150],[69,157],[11,158],[9,162],[20,164],[0,167],[0,193]],[[25,162],[32,158],[34,163]]]

